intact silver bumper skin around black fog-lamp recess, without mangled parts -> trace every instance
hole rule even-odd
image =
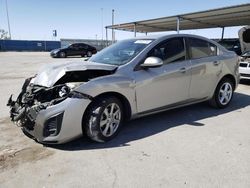
[[[23,127],[23,131],[38,142],[46,144],[61,144],[80,137],[83,114],[90,102],[88,99],[67,98],[59,104],[41,110],[36,117],[34,129]],[[56,135],[46,135],[49,121],[58,116],[62,116],[61,121],[56,122],[56,127],[60,130]]]

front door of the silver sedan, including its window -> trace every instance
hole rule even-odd
[[[161,58],[163,66],[135,72],[138,113],[160,110],[188,99],[191,73],[183,38],[160,43],[147,54],[152,56]]]

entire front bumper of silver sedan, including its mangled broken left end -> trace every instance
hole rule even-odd
[[[91,98],[78,93],[44,103],[34,103],[26,79],[16,101],[10,97],[10,117],[23,132],[40,143],[60,144],[82,135],[82,118]],[[45,96],[44,96],[45,97]],[[89,96],[90,97],[90,96]],[[55,103],[54,103],[54,102]]]

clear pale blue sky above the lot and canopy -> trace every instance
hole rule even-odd
[[[0,0],[0,29],[8,31],[6,0]],[[102,39],[105,26],[158,17],[174,16],[225,6],[250,3],[250,0],[7,0],[12,39],[60,40]],[[52,31],[57,30],[57,38]],[[238,35],[239,27],[225,29],[225,38]],[[173,32],[165,32],[173,33]],[[181,31],[220,38],[221,29]],[[150,33],[153,34],[153,33]],[[142,34],[138,34],[140,36]],[[115,31],[117,40],[131,38],[132,32]],[[111,31],[109,32],[109,39]]]

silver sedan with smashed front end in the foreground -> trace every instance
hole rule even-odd
[[[86,62],[53,64],[26,79],[8,101],[10,117],[40,143],[82,135],[105,142],[133,118],[203,101],[227,107],[238,68],[234,52],[204,37],[128,39]]]

